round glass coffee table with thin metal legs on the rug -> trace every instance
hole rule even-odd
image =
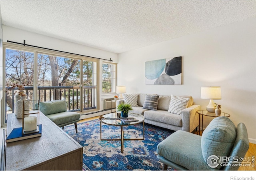
[[[118,117],[116,112],[105,114],[100,116],[100,140],[121,140],[121,152],[124,152],[124,140],[144,140],[144,116],[141,114],[128,113],[128,117],[137,119],[136,122],[123,122],[120,117]],[[111,126],[120,126],[121,137],[116,139],[103,139],[102,138],[102,123],[111,125]],[[131,126],[134,124],[143,123],[143,138],[136,139],[126,139],[124,138],[124,126]]]

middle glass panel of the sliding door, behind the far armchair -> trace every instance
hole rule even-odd
[[[80,59],[38,54],[38,99],[65,99],[68,110],[80,111]]]

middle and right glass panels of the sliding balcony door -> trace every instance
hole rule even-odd
[[[65,99],[70,111],[95,110],[98,102],[97,73],[98,62],[90,58],[38,54],[38,99]]]

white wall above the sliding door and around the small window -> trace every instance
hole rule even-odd
[[[91,48],[88,46],[83,46],[80,44],[75,44],[72,42],[67,42],[64,40],[51,38],[49,36],[43,36],[40,34],[12,28],[9,26],[3,26],[3,42],[7,42],[7,40],[12,42],[19,42],[23,43],[23,40],[26,40],[26,44],[39,46],[43,48],[49,48],[54,50],[60,50],[64,52],[70,52],[75,54],[81,54],[85,56],[92,56],[96,58],[103,58],[107,60],[113,60],[114,63],[118,62],[118,54],[113,52],[108,52],[96,48]],[[102,62],[110,62],[106,60],[99,61],[100,73],[99,73],[99,90],[100,90],[100,99],[102,97],[109,97],[109,96],[102,96]],[[114,95],[111,95],[112,98]],[[100,110],[103,109],[103,101],[100,101]],[[85,116],[83,116],[85,118]],[[87,117],[86,117],[87,118]]]

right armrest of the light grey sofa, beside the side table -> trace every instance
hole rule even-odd
[[[200,105],[192,105],[181,111],[182,130],[192,132],[199,125],[198,110],[201,110]]]

